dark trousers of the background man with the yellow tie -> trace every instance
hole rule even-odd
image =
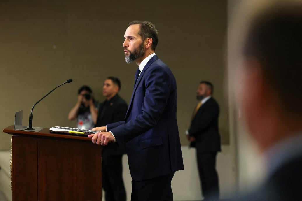
[[[197,164],[201,190],[204,200],[219,199],[218,174],[216,171],[216,152],[198,153]]]

